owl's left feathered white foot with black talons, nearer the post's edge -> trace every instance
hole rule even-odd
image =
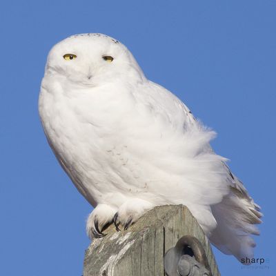
[[[86,222],[86,233],[88,237],[90,237],[90,239],[93,237],[104,237],[106,234],[103,233],[103,229],[112,223],[115,213],[116,210],[111,206],[107,204],[98,204],[97,207],[92,210]]]

